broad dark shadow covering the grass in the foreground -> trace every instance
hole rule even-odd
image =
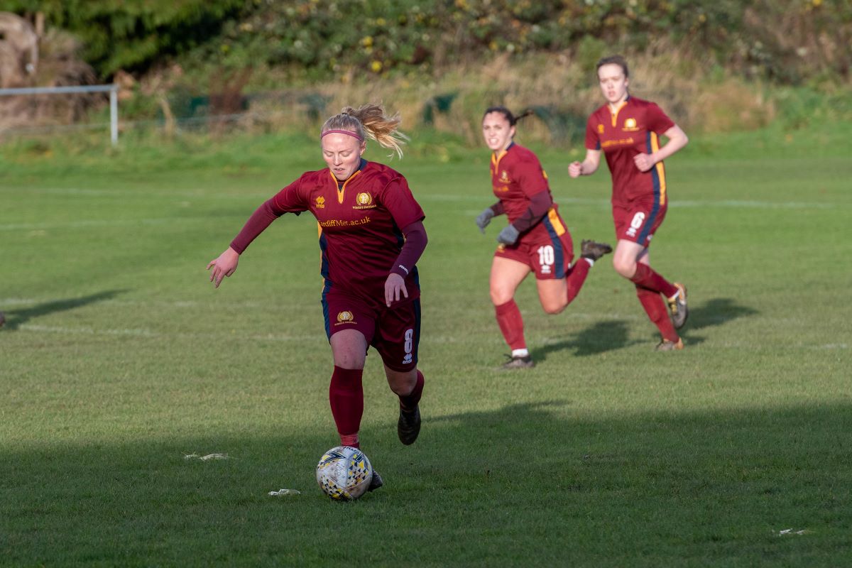
[[[413,538],[442,542],[418,557],[430,565],[771,565],[789,559],[786,529],[807,531],[789,537],[797,554],[848,550],[849,404],[600,416],[573,406],[425,407],[410,447],[395,421],[372,423],[365,451],[385,485],[348,504],[314,481],[337,442],[331,428],[276,436],[233,422],[215,432],[198,419],[203,436],[170,435],[167,421],[150,439],[116,422],[125,443],[0,446],[3,559],[328,565],[351,560],[340,538],[357,534],[375,565],[410,558]],[[188,460],[191,451],[233,459]],[[268,496],[282,488],[301,494]]]

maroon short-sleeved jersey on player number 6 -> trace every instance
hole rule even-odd
[[[597,109],[586,124],[585,146],[603,150],[613,175],[613,204],[626,204],[636,199],[653,200],[665,205],[665,167],[654,164],[647,172],[636,168],[636,154],[659,150],[659,135],[675,123],[665,116],[659,106],[634,96],[616,112],[609,105]]]

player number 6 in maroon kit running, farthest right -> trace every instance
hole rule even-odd
[[[648,244],[668,209],[663,160],[686,146],[687,135],[659,106],[628,93],[630,72],[620,55],[597,63],[597,77],[607,104],[586,124],[583,162],[568,166],[568,174],[592,175],[607,156],[613,175],[613,220],[619,239],[613,255],[616,272],[636,284],[636,295],[648,318],[659,329],[658,351],[683,348],[676,330],[687,320],[687,289],[656,273],[648,261]],[[669,139],[659,146],[659,135]],[[665,296],[671,313],[666,313]]]

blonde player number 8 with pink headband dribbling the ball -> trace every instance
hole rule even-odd
[[[239,255],[272,221],[310,211],[320,225],[322,307],[334,371],[329,399],[342,445],[360,447],[364,411],[361,376],[368,346],[384,363],[390,389],[400,399],[397,433],[405,445],[420,432],[418,403],[423,373],[417,370],[420,289],[415,266],[426,248],[423,209],[406,179],[383,164],[361,158],[366,137],[400,158],[405,136],[398,115],[382,106],[346,107],[320,131],[328,169],[310,171],[262,204],[230,247],[207,266],[216,287],[237,269]],[[374,473],[368,491],[383,484]]]

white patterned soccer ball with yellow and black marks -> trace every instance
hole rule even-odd
[[[335,501],[364,495],[372,481],[372,466],[364,452],[349,445],[331,448],[317,464],[317,483]]]

